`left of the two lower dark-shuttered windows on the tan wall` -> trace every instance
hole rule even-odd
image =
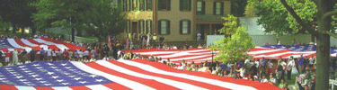
[[[170,34],[170,21],[159,21],[158,27],[158,34]]]

